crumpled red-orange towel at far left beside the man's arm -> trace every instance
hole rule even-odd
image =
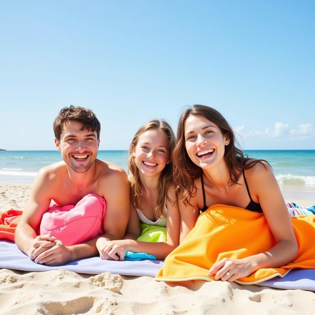
[[[8,210],[0,212],[0,239],[14,242],[15,228],[20,221],[22,210]]]

